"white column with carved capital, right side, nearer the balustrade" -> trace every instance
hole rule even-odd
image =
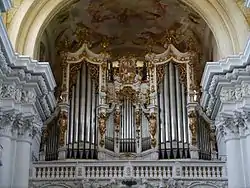
[[[218,131],[225,137],[228,188],[246,187],[239,127],[232,115],[222,116]]]

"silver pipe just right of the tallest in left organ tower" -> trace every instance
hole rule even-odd
[[[87,122],[86,122],[86,133],[87,133],[87,139],[86,141],[89,142],[90,141],[90,109],[91,109],[91,88],[92,88],[92,83],[91,83],[91,77],[90,77],[90,74],[88,74],[87,76],[88,80],[88,87],[86,88],[87,89],[87,114],[86,114],[86,119],[87,119]]]

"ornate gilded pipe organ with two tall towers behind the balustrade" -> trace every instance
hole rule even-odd
[[[66,157],[190,158],[195,146],[209,159],[209,126],[194,106],[194,57],[172,44],[143,61],[96,54],[86,44],[65,53],[60,105],[68,118],[58,126]]]

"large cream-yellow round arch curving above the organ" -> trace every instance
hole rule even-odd
[[[37,42],[49,21],[74,0],[24,1],[17,10],[8,32],[15,50],[37,58]],[[248,24],[235,2],[227,0],[182,0],[199,13],[212,30],[219,58],[243,52]]]

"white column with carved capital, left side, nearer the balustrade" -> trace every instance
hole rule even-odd
[[[30,152],[32,137],[39,131],[34,118],[24,118],[18,122],[17,143],[16,143],[16,160],[14,168],[13,187],[29,187],[29,169],[30,169]]]

